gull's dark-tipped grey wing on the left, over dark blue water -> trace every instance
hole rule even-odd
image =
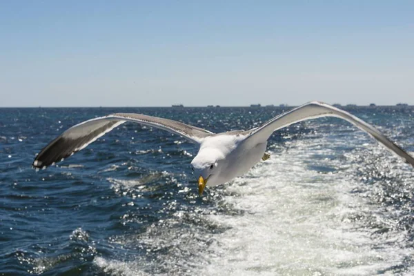
[[[170,119],[134,113],[117,113],[83,121],[72,126],[39,152],[39,155],[34,159],[33,166],[34,168],[46,168],[55,162],[61,161],[86,148],[90,143],[126,121],[167,130],[181,135],[195,144],[200,144],[205,137],[212,134],[208,130]]]

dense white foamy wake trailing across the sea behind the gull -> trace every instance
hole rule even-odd
[[[362,184],[308,170],[310,149],[298,144],[228,187],[237,196],[225,200],[246,212],[210,216],[230,229],[215,237],[206,275],[375,275],[413,253],[395,247],[404,233],[373,236],[378,206],[350,193]]]

